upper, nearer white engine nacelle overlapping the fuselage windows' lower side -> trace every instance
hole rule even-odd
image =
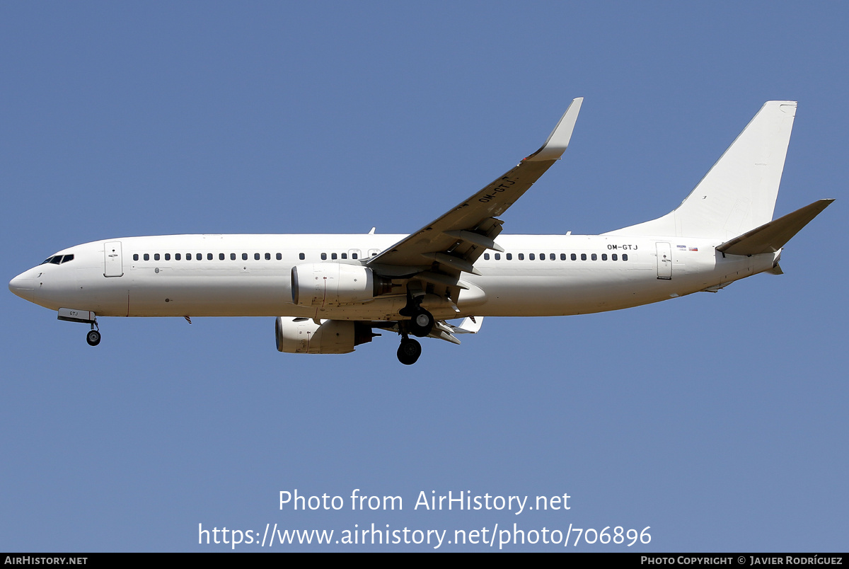
[[[302,307],[367,302],[391,288],[390,279],[359,265],[318,262],[292,268],[292,301]]]

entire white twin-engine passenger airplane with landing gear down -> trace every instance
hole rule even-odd
[[[347,353],[374,330],[460,343],[485,316],[566,316],[716,292],[780,274],[784,244],[833,200],[773,220],[794,101],[768,101],[677,209],[600,235],[502,235],[498,219],[563,155],[583,99],[543,147],[409,235],[160,235],[49,256],[14,294],[90,324],[98,316],[273,316],[277,349]],[[464,318],[460,324],[448,320]]]

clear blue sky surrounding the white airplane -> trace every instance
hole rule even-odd
[[[406,233],[537,149],[575,97],[571,146],[507,233],[670,211],[769,99],[799,101],[776,214],[837,198],[782,277],[487,318],[410,368],[388,334],[278,353],[272,318],[104,318],[91,348],[4,294],[0,550],[515,522],[651,527],[567,550],[845,551],[847,22],[841,3],[0,4],[7,280],[96,239]],[[295,488],[403,510],[280,510]],[[571,509],[413,510],[449,490]]]

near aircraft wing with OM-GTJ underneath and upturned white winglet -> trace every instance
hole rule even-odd
[[[448,281],[456,283],[459,273],[477,273],[473,265],[483,251],[503,251],[494,240],[502,225],[496,216],[507,211],[560,159],[569,145],[582,102],[583,98],[574,99],[545,144],[518,166],[442,217],[381,251],[368,260],[368,266],[396,276],[428,271],[424,280],[449,287]]]

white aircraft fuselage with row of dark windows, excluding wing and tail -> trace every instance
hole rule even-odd
[[[106,239],[59,251],[56,256],[73,255],[73,260],[31,268],[9,288],[42,307],[98,316],[387,320],[398,318],[405,306],[400,287],[365,303],[301,307],[292,301],[290,274],[304,263],[359,266],[403,238],[205,234]],[[717,239],[567,234],[503,235],[498,242],[503,252],[487,251],[475,263],[481,275],[464,274],[468,288],[456,301],[459,313],[439,299],[425,298],[423,306],[436,318],[599,313],[720,287],[773,268],[779,256],[723,256],[716,251]]]

